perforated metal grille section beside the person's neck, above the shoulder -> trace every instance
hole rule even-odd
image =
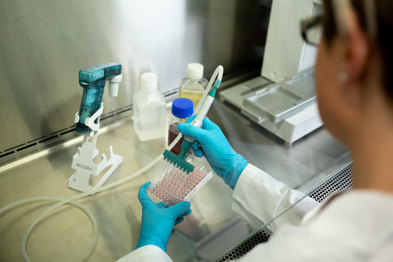
[[[334,193],[346,191],[353,187],[353,165],[349,164],[328,181],[309,193],[309,197],[324,202]]]

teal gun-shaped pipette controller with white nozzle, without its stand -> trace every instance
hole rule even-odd
[[[84,121],[100,109],[105,82],[109,81],[110,95],[117,96],[121,79],[119,63],[98,64],[79,71],[79,85],[84,88],[84,91],[79,109],[79,122],[76,126],[77,132],[86,134],[91,131]]]

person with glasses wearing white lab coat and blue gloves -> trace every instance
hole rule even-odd
[[[324,0],[316,62],[318,106],[325,127],[354,159],[353,190],[324,204],[311,198],[270,225],[270,241],[240,261],[393,261],[393,1]],[[196,156],[233,189],[233,207],[248,220],[267,222],[276,206],[303,195],[249,164],[229,145],[220,128],[205,119],[203,129],[179,124],[197,139]],[[165,253],[172,227],[191,213],[190,203],[159,208],[140,187],[140,238],[120,261],[171,261]]]

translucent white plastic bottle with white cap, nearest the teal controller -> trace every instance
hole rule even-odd
[[[166,102],[158,90],[157,75],[140,76],[140,90],[133,96],[134,128],[140,141],[163,138],[166,134]]]

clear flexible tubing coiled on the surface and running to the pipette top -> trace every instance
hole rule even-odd
[[[214,70],[214,73],[213,73],[213,75],[212,75],[212,77],[211,77],[209,83],[207,84],[206,90],[205,90],[205,92],[203,93],[203,95],[202,95],[201,99],[199,100],[199,103],[198,103],[198,105],[197,105],[197,107],[196,107],[196,109],[195,109],[195,113],[198,113],[198,111],[199,111],[201,105],[203,104],[203,101],[205,100],[207,94],[209,93],[210,88],[212,87],[212,85],[213,85],[213,83],[214,83],[216,77],[217,77],[218,80],[220,80],[220,81],[222,80],[222,78],[223,78],[223,72],[224,72],[224,67],[223,67],[222,65],[217,66],[216,70]],[[172,147],[176,145],[176,143],[180,140],[180,138],[181,138],[181,134],[178,134],[177,137],[173,140],[173,142],[172,142],[166,149],[167,149],[167,150],[172,149]],[[83,198],[83,197],[85,197],[85,196],[92,195],[92,194],[95,194],[95,193],[104,191],[104,190],[106,190],[106,189],[110,189],[110,188],[115,187],[115,186],[117,186],[117,185],[120,185],[120,184],[122,184],[122,183],[125,183],[125,182],[127,182],[127,181],[133,179],[134,177],[136,177],[136,176],[142,174],[143,172],[147,171],[147,170],[150,169],[152,166],[154,166],[156,163],[158,163],[160,160],[163,160],[163,156],[162,156],[161,154],[160,154],[159,156],[157,156],[156,158],[154,158],[154,159],[153,159],[150,163],[148,163],[146,166],[144,166],[143,168],[141,168],[141,169],[138,170],[137,172],[134,172],[134,173],[131,174],[131,175],[128,175],[128,176],[126,176],[126,177],[124,177],[124,178],[122,178],[122,179],[120,179],[120,180],[117,180],[117,181],[115,181],[115,182],[113,182],[113,183],[110,183],[110,184],[108,184],[108,185],[106,185],[106,186],[102,186],[102,187],[100,187],[100,188],[96,188],[96,189],[92,189],[92,190],[87,191],[87,192],[84,192],[84,193],[80,193],[80,194],[78,194],[78,195],[76,195],[76,196],[74,196],[74,197],[72,197],[72,198],[63,199],[63,198],[56,198],[56,197],[53,197],[52,200],[53,200],[53,201],[58,201],[58,203],[52,205],[50,208],[48,208],[47,210],[45,210],[41,215],[39,215],[39,216],[34,220],[34,222],[31,223],[31,225],[28,227],[28,229],[26,230],[25,234],[23,235],[22,244],[21,244],[21,253],[22,253],[22,257],[23,257],[23,259],[25,260],[25,262],[31,262],[31,260],[28,258],[27,252],[26,252],[28,237],[30,236],[30,233],[31,233],[32,229],[35,227],[35,225],[37,225],[37,223],[38,223],[42,218],[44,218],[46,215],[48,215],[49,213],[51,213],[52,211],[54,211],[57,207],[59,207],[59,206],[61,206],[61,205],[63,205],[63,204],[71,203],[71,202],[73,202],[73,201],[75,201],[75,200],[77,200],[77,199]],[[41,197],[32,198],[32,199],[40,199],[40,198],[41,198]],[[45,197],[42,197],[42,198],[45,198]],[[24,199],[24,200],[16,201],[16,202],[14,202],[14,203],[5,205],[5,206],[3,206],[2,208],[0,208],[0,214],[1,214],[2,212],[4,212],[5,210],[11,208],[12,206],[17,206],[17,205],[20,205],[20,204],[23,204],[23,203],[32,202],[32,199]],[[57,199],[57,200],[55,200],[55,199]],[[42,201],[42,200],[33,200],[33,201]],[[73,203],[72,203],[72,204],[73,204]],[[93,229],[94,229],[94,225],[97,224],[97,223],[96,223],[96,220],[95,220],[95,218],[94,218],[94,215],[93,215],[87,208],[85,208],[84,206],[81,207],[81,206],[78,205],[78,204],[74,204],[74,205],[77,205],[78,207],[80,207],[80,208],[81,208],[82,210],[84,210],[84,212],[89,216],[89,218],[90,218],[90,220],[91,220],[91,222],[92,222],[92,224],[93,224]],[[94,221],[94,222],[93,222],[93,221]],[[94,223],[95,223],[95,224],[94,224]],[[95,232],[95,231],[94,231],[94,232]],[[97,236],[96,236],[96,237],[98,237],[98,233],[97,233]],[[95,241],[95,242],[94,242],[94,241]],[[94,244],[93,244],[93,243],[94,243]],[[90,249],[89,249],[89,251],[88,251],[89,254],[94,250],[94,247],[95,247],[96,244],[97,244],[97,239],[94,240],[94,235],[93,235],[92,245],[90,246]],[[86,253],[86,254],[87,254],[87,253]],[[86,255],[86,254],[85,254],[85,255]],[[84,261],[84,260],[87,258],[87,256],[85,256],[85,255],[84,255],[82,258],[78,259],[77,261]]]

